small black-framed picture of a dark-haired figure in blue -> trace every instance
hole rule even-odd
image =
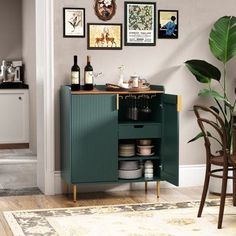
[[[158,38],[177,39],[179,18],[177,10],[158,11]]]

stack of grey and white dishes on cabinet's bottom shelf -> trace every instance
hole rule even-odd
[[[120,161],[119,178],[137,179],[142,177],[142,169],[139,167],[139,161]]]

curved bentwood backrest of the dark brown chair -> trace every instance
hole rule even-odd
[[[213,157],[223,155],[224,162],[228,163],[230,151],[227,146],[227,133],[224,121],[216,112],[208,107],[195,105],[193,109],[204,137],[207,159],[210,160]],[[212,151],[213,142],[218,143],[220,146],[220,150],[217,150],[219,151],[218,154]]]

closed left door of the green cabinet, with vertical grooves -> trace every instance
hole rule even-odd
[[[118,180],[116,98],[72,95],[72,183]]]

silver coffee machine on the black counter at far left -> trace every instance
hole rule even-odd
[[[24,83],[22,61],[2,61],[0,69],[0,83]]]

